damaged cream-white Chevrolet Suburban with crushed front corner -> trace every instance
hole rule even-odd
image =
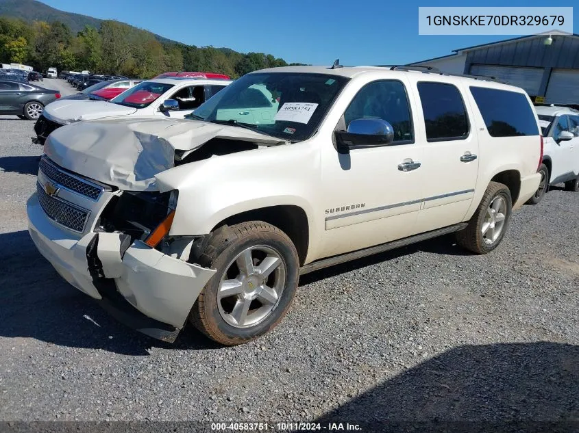
[[[491,252],[537,191],[520,88],[405,67],[294,66],[191,120],[74,122],[45,145],[29,233],[71,285],[173,341],[264,334],[300,274],[456,232]]]

